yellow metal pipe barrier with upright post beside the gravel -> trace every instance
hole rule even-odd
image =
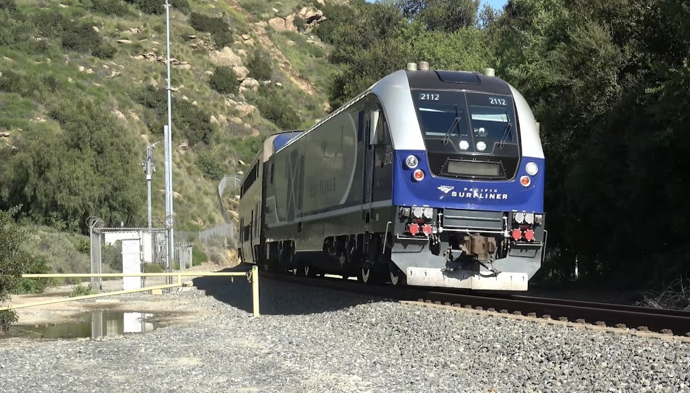
[[[144,291],[150,291],[150,290],[163,290],[163,289],[167,289],[167,288],[175,288],[175,287],[179,287],[182,285],[182,276],[246,276],[246,275],[247,275],[246,273],[242,273],[242,272],[226,272],[226,273],[219,273],[219,272],[178,272],[178,273],[101,273],[101,274],[93,274],[93,273],[22,274],[21,275],[22,277],[31,278],[31,279],[34,279],[34,278],[35,279],[41,279],[41,278],[46,278],[46,279],[49,279],[49,278],[77,278],[77,277],[88,278],[88,277],[142,277],[142,276],[166,277],[166,276],[177,276],[177,283],[165,284],[165,285],[155,285],[152,287],[138,288],[138,289],[134,289],[134,290],[121,290],[121,291],[108,292],[108,293],[103,293],[103,294],[90,294],[90,295],[75,296],[75,297],[63,298],[63,299],[51,299],[51,300],[46,300],[46,301],[37,301],[34,303],[26,303],[26,304],[22,304],[22,305],[0,307],[0,311],[13,310],[15,308],[27,308],[27,307],[32,307],[34,305],[66,303],[68,301],[77,301],[77,300],[83,300],[83,299],[94,299],[94,298],[103,297],[103,296],[112,296],[112,295],[118,295],[118,294],[130,294],[130,293],[135,293],[135,292],[144,292]],[[250,281],[252,283],[252,302],[253,302],[254,316],[259,316],[259,269],[257,268],[257,265],[252,266],[251,274],[247,278],[250,279]]]

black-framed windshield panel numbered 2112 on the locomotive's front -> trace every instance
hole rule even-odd
[[[513,99],[458,90],[412,90],[429,164],[439,176],[511,179],[518,131]]]

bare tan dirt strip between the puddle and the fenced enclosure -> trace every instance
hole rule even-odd
[[[217,272],[229,266],[218,265],[216,263],[204,263],[194,266],[189,271],[195,272]],[[182,277],[182,282],[191,281],[195,276]],[[173,291],[178,288],[172,288]],[[186,290],[186,288],[182,288]],[[22,294],[12,295],[10,307],[28,303],[48,301],[52,299],[68,298],[72,293],[72,285],[47,288],[42,294]],[[52,303],[47,305],[35,305],[28,308],[16,308],[19,321],[17,325],[43,325],[52,323],[63,323],[74,321],[79,314],[91,310],[118,310],[118,311],[146,311],[158,314],[170,314],[171,310],[179,310],[179,302],[170,299],[168,296],[152,295],[150,292],[139,292],[140,299],[137,301],[120,301],[121,296],[103,296],[95,299],[85,299],[81,301],[68,301],[63,303]],[[166,317],[170,323],[189,323],[195,320],[195,316],[207,314],[204,308],[195,308],[193,304],[185,305],[185,312],[174,312]]]

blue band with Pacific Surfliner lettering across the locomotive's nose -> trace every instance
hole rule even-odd
[[[419,159],[415,169],[407,168],[405,159],[414,154]],[[464,210],[492,210],[509,212],[544,212],[544,159],[522,157],[517,176],[513,180],[486,181],[435,177],[428,169],[426,151],[397,150],[393,165],[393,205],[429,206]],[[529,176],[525,165],[537,164],[539,170],[530,176],[524,187],[520,177]],[[424,171],[424,179],[415,181],[413,172]]]

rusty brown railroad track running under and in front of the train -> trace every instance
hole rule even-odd
[[[333,290],[380,296],[397,301],[418,301],[425,304],[453,308],[522,315],[537,319],[551,319],[569,323],[584,323],[613,328],[630,328],[638,332],[656,332],[690,337],[690,312],[661,310],[632,305],[593,303],[564,299],[550,299],[513,294],[461,294],[439,292],[424,287],[393,287],[392,285],[364,285],[353,280],[330,277],[306,278],[286,273],[261,272],[268,279]]]

